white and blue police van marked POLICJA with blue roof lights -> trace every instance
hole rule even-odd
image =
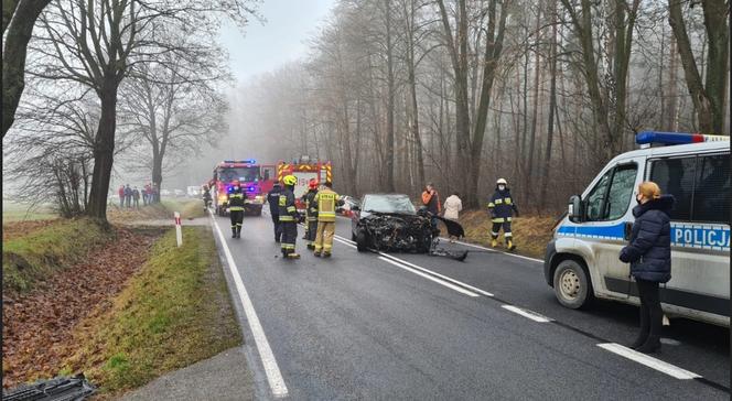
[[[671,280],[660,284],[667,316],[730,326],[730,138],[640,132],[642,149],[613,159],[568,213],[547,246],[545,278],[571,308],[593,297],[639,304],[629,264],[618,260],[644,181],[676,197]]]

